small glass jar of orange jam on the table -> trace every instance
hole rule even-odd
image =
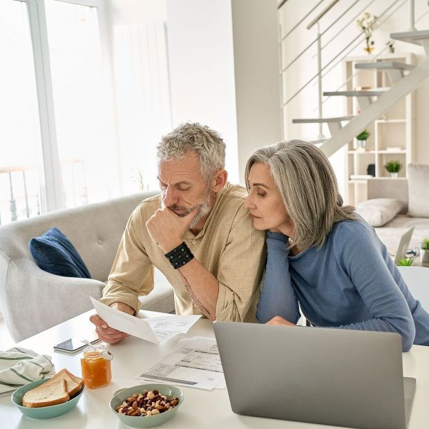
[[[111,382],[111,359],[113,356],[104,345],[90,345],[84,349],[84,356],[82,356],[80,363],[82,378],[87,388],[104,388]]]

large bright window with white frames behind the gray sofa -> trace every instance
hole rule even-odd
[[[165,0],[0,0],[0,224],[158,187],[165,22]]]

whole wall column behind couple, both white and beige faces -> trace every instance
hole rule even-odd
[[[251,151],[281,136],[276,1],[167,0],[167,28],[173,126],[220,132],[243,183]]]

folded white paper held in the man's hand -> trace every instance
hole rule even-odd
[[[201,315],[139,318],[100,303],[91,296],[97,314],[115,330],[126,332],[151,343],[161,343],[178,334],[186,334]]]

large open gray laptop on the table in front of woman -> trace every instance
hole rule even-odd
[[[401,336],[258,323],[213,324],[233,412],[360,429],[406,429],[416,380]]]

